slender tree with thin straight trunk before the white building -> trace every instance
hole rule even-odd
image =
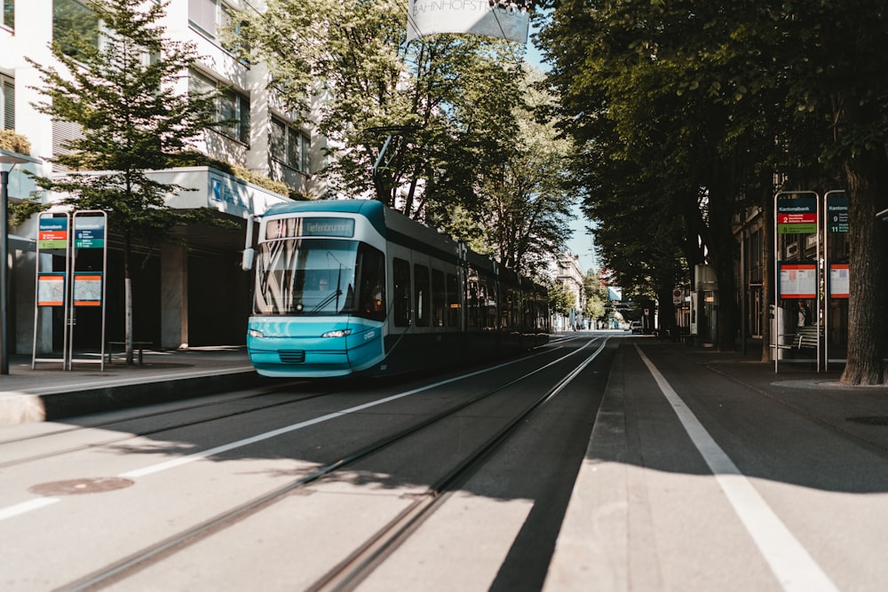
[[[175,85],[198,58],[194,46],[165,38],[158,20],[167,4],[91,0],[102,36],[68,29],[52,43],[60,70],[28,59],[42,75],[45,100],[36,108],[82,131],[52,162],[69,172],[39,178],[44,189],[66,193],[78,209],[108,212],[110,230],[123,237],[127,363],[132,364],[131,257],[134,244],[163,240],[173,226],[210,222],[210,210],[182,213],[164,198],[182,187],[148,175],[163,169],[215,124],[215,97],[186,96]],[[98,42],[98,43],[97,43]],[[100,171],[100,172],[87,172]]]

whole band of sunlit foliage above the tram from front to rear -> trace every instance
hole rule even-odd
[[[468,35],[408,44],[404,4],[389,0],[270,0],[247,29],[276,97],[328,138],[333,193],[373,195],[525,270],[559,243],[559,154],[526,127],[515,45]]]

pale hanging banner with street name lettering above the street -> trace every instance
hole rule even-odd
[[[407,41],[440,33],[467,33],[527,43],[530,15],[508,4],[489,0],[410,0]]]

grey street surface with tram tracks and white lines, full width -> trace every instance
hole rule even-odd
[[[576,334],[9,426],[0,587],[881,590],[886,397]]]

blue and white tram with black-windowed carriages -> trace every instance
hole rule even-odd
[[[250,221],[260,375],[400,373],[549,338],[548,294],[379,201],[298,201]]]

